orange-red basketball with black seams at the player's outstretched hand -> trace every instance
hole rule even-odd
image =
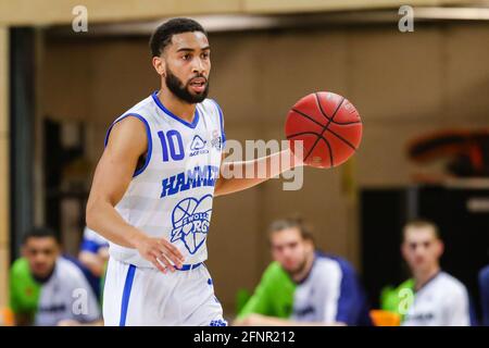
[[[289,111],[286,135],[290,148],[302,140],[303,161],[317,167],[344,163],[360,146],[362,121],[355,107],[344,97],[318,91],[299,100]]]

